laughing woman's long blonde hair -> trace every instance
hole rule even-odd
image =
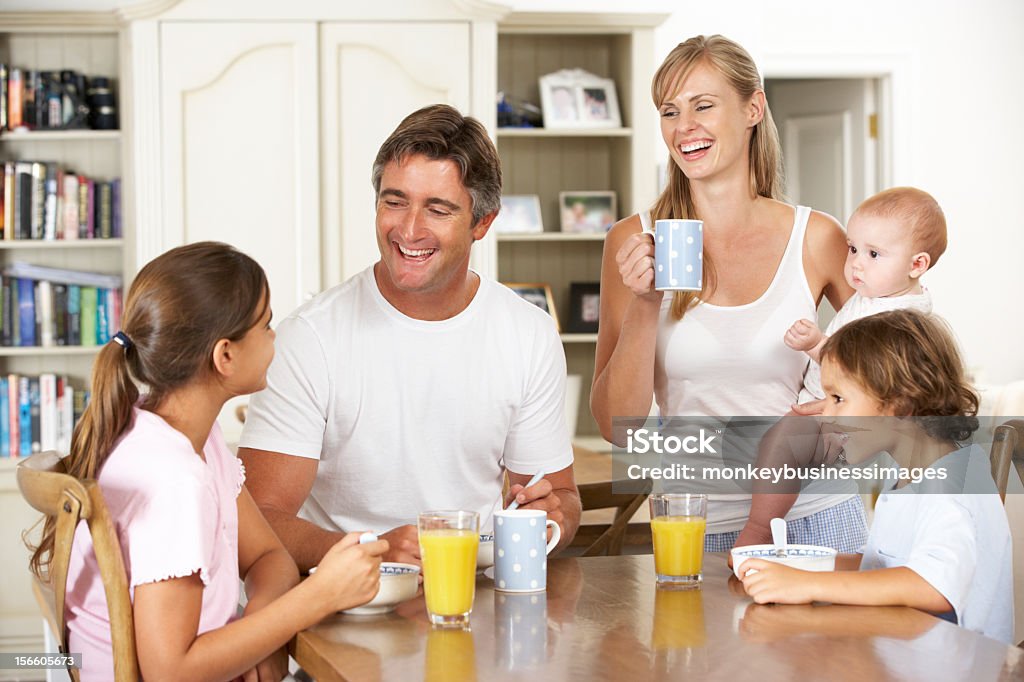
[[[698,65],[714,67],[743,99],[764,90],[761,75],[754,59],[739,44],[723,36],[694,36],[680,43],[665,58],[654,80],[650,94],[654,106],[675,95],[683,81]],[[764,117],[754,126],[750,143],[751,196],[780,199],[782,195],[782,155],[779,150],[778,131],[768,104]],[[663,218],[699,218],[693,206],[690,181],[682,169],[669,158],[669,183],[651,207],[654,220]],[[715,290],[715,267],[708,254],[703,255],[702,291]],[[682,319],[683,314],[696,302],[693,292],[676,293],[672,301],[672,316]]]

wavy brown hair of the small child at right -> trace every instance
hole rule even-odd
[[[935,315],[890,310],[855,319],[825,342],[826,360],[933,437],[966,440],[978,429],[978,393],[952,332]]]

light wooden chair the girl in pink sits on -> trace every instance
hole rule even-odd
[[[65,593],[72,542],[80,520],[86,521],[106,594],[111,636],[114,645],[114,679],[118,682],[139,679],[135,654],[135,628],[121,545],[106,505],[95,480],[79,480],[66,473],[63,462],[54,452],[38,453],[17,465],[17,486],[26,501],[38,511],[56,516],[53,557],[49,582],[33,582],[33,591],[49,623],[60,652],[68,653],[68,627]],[[70,669],[75,682],[79,671]]]

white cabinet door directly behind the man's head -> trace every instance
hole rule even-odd
[[[468,23],[324,24],[325,286],[378,260],[371,172],[409,114],[437,102],[469,111]]]

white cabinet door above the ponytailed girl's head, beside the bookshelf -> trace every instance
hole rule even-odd
[[[161,26],[165,244],[258,260],[274,317],[321,289],[316,25]]]

